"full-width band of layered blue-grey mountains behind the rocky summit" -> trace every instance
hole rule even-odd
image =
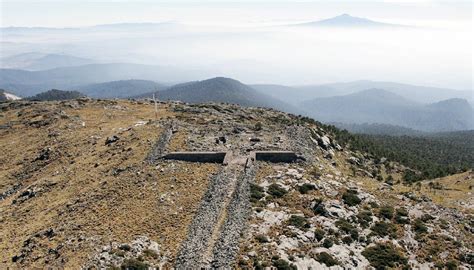
[[[466,101],[472,102],[470,91],[374,81],[313,86],[245,85],[222,77],[190,81],[203,76],[199,71],[126,63],[42,71],[0,69],[0,88],[19,97],[48,89],[77,90],[95,98],[157,93],[162,100],[270,107],[327,123],[384,124],[429,132],[474,127],[472,107]],[[190,82],[168,87],[173,81]]]

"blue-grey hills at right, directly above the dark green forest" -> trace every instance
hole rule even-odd
[[[473,127],[472,107],[466,100],[423,105],[381,89],[302,103],[310,116],[323,122],[388,124],[421,131],[454,131]]]

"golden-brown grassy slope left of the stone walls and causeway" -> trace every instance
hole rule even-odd
[[[217,168],[144,163],[162,130],[139,123],[154,118],[151,104],[47,102],[0,115],[11,126],[0,129],[0,194],[19,185],[0,201],[0,268],[77,269],[97,248],[137,235],[173,259]],[[166,105],[158,115],[174,117]],[[105,145],[112,135],[119,140]],[[34,197],[20,196],[28,189]]]

